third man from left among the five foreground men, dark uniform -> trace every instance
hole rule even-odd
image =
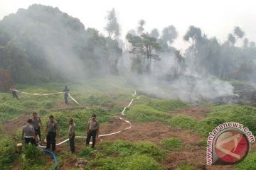
[[[50,149],[50,144],[52,145],[52,150],[55,151],[56,146],[56,133],[59,135],[58,124],[54,120],[53,115],[50,115],[48,122],[46,123],[46,149]]]

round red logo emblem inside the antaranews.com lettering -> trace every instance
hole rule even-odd
[[[237,130],[226,130],[215,140],[215,153],[221,162],[233,164],[247,156],[250,143],[247,137]]]

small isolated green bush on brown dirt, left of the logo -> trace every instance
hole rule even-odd
[[[161,145],[163,145],[166,149],[170,151],[178,151],[182,148],[182,141],[177,137],[171,137],[161,141]]]

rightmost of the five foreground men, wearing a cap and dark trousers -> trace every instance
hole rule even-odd
[[[95,147],[96,137],[99,137],[99,123],[96,120],[96,115],[92,114],[92,118],[87,123],[87,138],[86,146],[90,143],[90,138],[92,137],[92,148]]]

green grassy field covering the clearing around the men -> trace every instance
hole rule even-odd
[[[85,126],[92,113],[97,114],[101,125],[107,127],[113,118],[120,115],[124,106],[132,100],[135,88],[127,85],[127,81],[116,77],[105,79],[90,79],[80,84],[50,83],[40,85],[18,84],[19,91],[46,94],[63,91],[65,85],[70,89],[70,94],[81,106],[71,101],[65,106],[63,94],[52,96],[33,96],[19,94],[19,100],[13,98],[11,93],[0,94],[0,133],[4,137],[0,139],[0,167],[1,169],[48,169],[48,159],[40,152],[31,148],[24,149],[23,154],[14,154],[15,145],[21,142],[21,127],[26,124],[26,119],[34,112],[38,112],[43,123],[49,115],[54,115],[60,125],[60,137],[65,139],[68,130],[68,119],[74,118],[77,127],[77,135],[85,135]],[[85,106],[89,108],[85,108]],[[134,99],[131,107],[127,108],[124,118],[137,125],[145,123],[161,123],[164,127],[176,128],[182,132],[191,132],[201,136],[195,145],[188,145],[188,141],[176,136],[164,137],[159,141],[110,140],[101,142],[100,146],[93,150],[83,146],[83,140],[76,140],[79,144],[79,152],[70,154],[64,150],[58,154],[59,162],[66,159],[83,157],[89,160],[85,169],[166,169],[169,157],[175,153],[186,152],[186,149],[205,148],[208,132],[220,123],[234,121],[242,123],[253,134],[256,133],[256,109],[251,106],[238,105],[203,105],[209,112],[203,118],[195,118],[186,114],[186,109],[194,106],[179,100],[160,99],[149,96],[140,96]],[[180,113],[180,111],[183,111]],[[175,113],[175,114],[172,114]],[[23,120],[22,120],[23,119]],[[20,122],[18,122],[20,120]],[[6,122],[15,125],[13,132],[6,130]],[[18,124],[19,123],[19,124]],[[16,127],[16,128],[15,128]],[[186,130],[186,131],[183,131]],[[45,136],[44,130],[43,137]],[[129,132],[129,130],[127,130]],[[11,135],[12,134],[12,135]],[[128,134],[129,135],[129,134]],[[186,137],[185,137],[186,138]],[[64,144],[68,147],[68,144]],[[192,148],[192,149],[191,149]],[[199,149],[200,150],[200,149]],[[33,153],[33,157],[24,157]],[[252,148],[249,156],[240,164],[233,166],[235,169],[250,169],[255,167],[255,149]],[[41,162],[35,162],[35,157],[41,157]],[[22,163],[21,163],[22,162]],[[33,164],[31,163],[33,162]],[[31,166],[28,166],[31,164]],[[180,162],[174,169],[200,169],[197,162]],[[73,169],[76,169],[73,167]]]

